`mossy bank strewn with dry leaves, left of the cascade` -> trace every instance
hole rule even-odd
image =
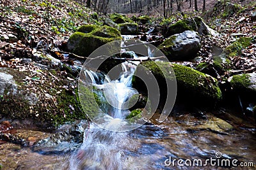
[[[19,72],[17,70],[7,69],[13,75],[15,81],[20,82],[17,94],[4,94],[0,97],[0,113],[7,118],[26,119],[31,118],[35,122],[41,122],[42,126],[52,127],[72,122],[74,120],[85,119],[86,115],[80,110],[79,97],[77,89],[66,89],[70,85],[67,78],[60,76],[56,70],[44,71],[44,83],[36,85],[32,82],[31,88],[36,90],[38,101],[31,104],[28,97],[31,91],[28,91],[27,81],[22,76],[29,76],[28,71]],[[51,74],[49,74],[49,72]],[[58,78],[52,77],[52,74]],[[40,75],[37,75],[40,78]],[[21,78],[21,79],[20,79]],[[54,79],[54,81],[52,81]],[[36,80],[32,80],[36,81]],[[46,97],[46,94],[52,97]],[[93,108],[92,108],[93,109]]]

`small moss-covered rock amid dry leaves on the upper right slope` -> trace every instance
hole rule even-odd
[[[242,50],[252,43],[252,38],[250,37],[241,37],[237,39],[234,43],[231,45],[227,46],[225,48],[225,53],[227,53],[228,56],[234,57],[237,55],[242,54]]]

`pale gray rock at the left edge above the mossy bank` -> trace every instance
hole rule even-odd
[[[17,85],[15,83],[15,80],[13,80],[13,76],[11,74],[0,72],[0,95],[14,95],[16,93]]]

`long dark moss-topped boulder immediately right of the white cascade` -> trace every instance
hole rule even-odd
[[[185,104],[196,104],[196,106],[211,106],[221,99],[221,90],[218,81],[212,76],[191,69],[190,67],[169,62],[142,62],[136,71],[145,71],[144,67],[154,74],[160,89],[161,101],[166,96],[166,81],[173,81],[172,69],[177,81],[177,100]],[[171,69],[172,68],[172,69]],[[146,74],[148,71],[145,71]],[[164,75],[166,78],[164,78]],[[147,88],[144,83],[134,76],[132,85],[139,91],[145,92]],[[164,96],[165,94],[165,96]]]

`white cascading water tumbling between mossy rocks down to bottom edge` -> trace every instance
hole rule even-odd
[[[136,94],[136,90],[131,88],[132,75],[136,66],[129,62],[122,63],[122,74],[116,80],[110,80],[107,75],[94,73],[86,70],[85,75],[92,80],[92,84],[97,89],[104,89],[104,96],[112,106],[109,108],[109,118],[106,126],[111,129],[118,129],[117,126],[122,125],[122,119],[130,112],[124,108],[123,104],[128,97]],[[104,79],[104,83],[102,80]],[[102,99],[104,100],[104,99]],[[79,150],[74,153],[70,160],[70,169],[124,169],[124,152],[127,142],[125,141],[127,132],[108,131],[98,127],[95,124],[90,125],[90,134],[86,136],[84,133],[84,141]]]

